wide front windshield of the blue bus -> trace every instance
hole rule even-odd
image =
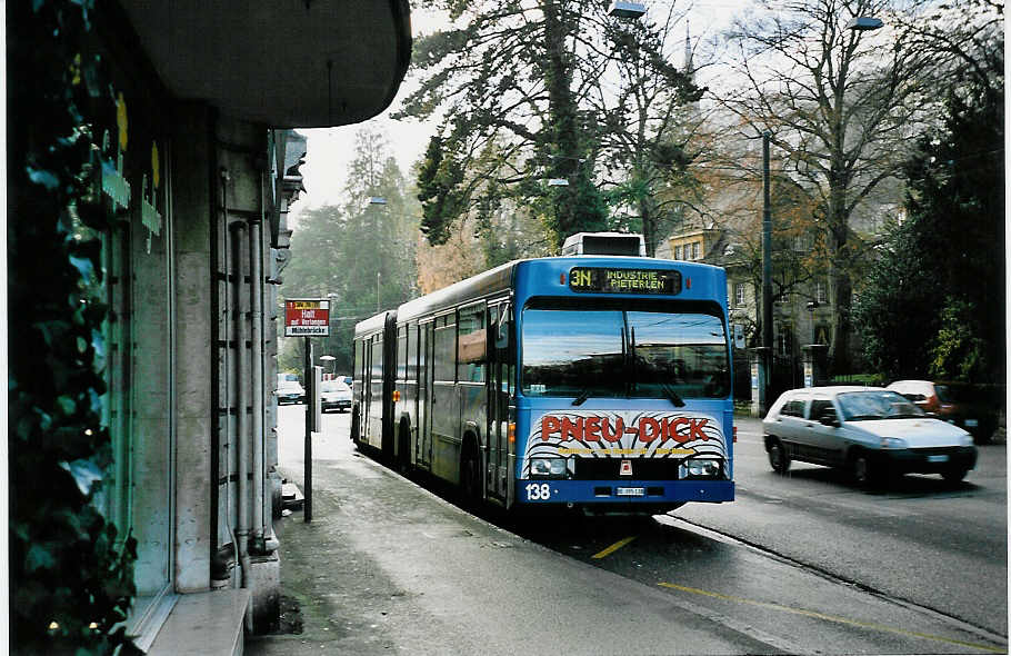
[[[527,396],[725,398],[727,336],[711,307],[540,301],[522,316]]]

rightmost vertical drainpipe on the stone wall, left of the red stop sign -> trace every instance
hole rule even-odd
[[[266,550],[263,534],[263,298],[261,222],[249,221],[250,361],[252,366],[252,530],[253,548]]]

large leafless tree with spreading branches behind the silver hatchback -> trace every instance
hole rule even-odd
[[[833,310],[830,359],[848,370],[853,218],[898,176],[928,116],[927,82],[938,60],[914,47],[892,0],[761,0],[765,11],[739,20],[735,89],[718,93],[740,117],[742,136],[769,131],[785,172],[815,200],[814,221],[828,256]],[[887,22],[875,32],[848,29],[857,17]],[[909,16],[904,17],[907,20]]]

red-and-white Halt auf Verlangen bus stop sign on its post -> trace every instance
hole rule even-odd
[[[290,298],[284,301],[284,337],[306,338],[306,362],[302,379],[306,381],[306,481],[302,494],[302,517],[312,521],[312,431],[319,430],[319,372],[312,367],[311,337],[330,335],[330,300],[326,298]]]

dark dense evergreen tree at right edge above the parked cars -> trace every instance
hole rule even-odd
[[[965,70],[905,167],[908,219],[858,304],[865,355],[890,377],[1005,378],[1003,38]]]

